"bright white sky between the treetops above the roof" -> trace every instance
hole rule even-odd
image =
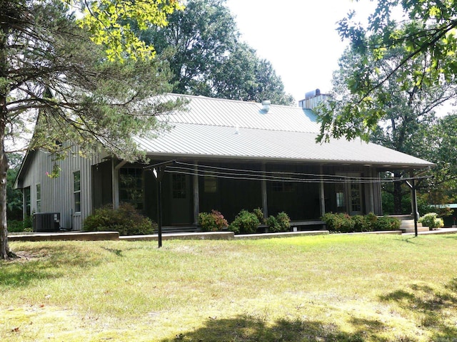
[[[305,93],[331,90],[332,73],[347,42],[338,36],[337,21],[351,9],[366,22],[372,1],[360,0],[226,0],[241,40],[273,65],[286,93],[296,103]]]

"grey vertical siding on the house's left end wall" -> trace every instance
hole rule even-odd
[[[41,210],[40,212],[59,212],[61,227],[65,229],[81,229],[81,222],[92,209],[91,165],[101,162],[99,155],[83,158],[79,157],[78,150],[65,160],[59,160],[61,167],[59,177],[50,178],[46,172],[51,173],[54,156],[41,151],[31,152],[30,167],[24,175],[24,187],[31,190],[31,212],[38,212],[36,207],[36,184],[41,184]],[[74,185],[73,173],[81,172],[81,212],[74,212]]]

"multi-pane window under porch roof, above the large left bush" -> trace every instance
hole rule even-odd
[[[123,167],[119,170],[119,202],[143,209],[143,169]]]

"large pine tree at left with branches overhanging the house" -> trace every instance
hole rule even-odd
[[[135,160],[142,154],[132,135],[154,135],[161,129],[155,115],[179,105],[158,96],[170,89],[164,61],[128,54],[107,61],[104,48],[67,10],[58,0],[0,1],[0,259],[13,255],[6,227],[6,138],[36,123],[29,149],[59,158],[72,144],[83,154],[103,145],[112,155]]]

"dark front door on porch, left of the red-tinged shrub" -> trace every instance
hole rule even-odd
[[[191,224],[193,222],[191,198],[193,196],[189,175],[171,174],[171,224]]]

